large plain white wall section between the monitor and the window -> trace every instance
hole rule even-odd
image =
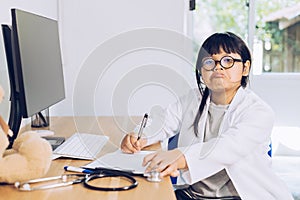
[[[187,3],[59,1],[67,99],[52,110],[142,115],[194,87]]]

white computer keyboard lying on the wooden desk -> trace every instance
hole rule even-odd
[[[53,156],[95,160],[108,139],[103,135],[74,133],[53,151]]]

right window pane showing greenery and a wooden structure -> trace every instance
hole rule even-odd
[[[256,13],[258,72],[300,72],[300,0],[256,1]]]

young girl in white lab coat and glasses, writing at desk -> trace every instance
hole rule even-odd
[[[165,111],[159,132],[137,141],[127,134],[126,153],[179,134],[178,148],[144,158],[146,171],[178,176],[177,199],[293,199],[271,169],[268,155],[274,113],[247,82],[251,54],[237,35],[215,33],[197,59],[198,89]]]

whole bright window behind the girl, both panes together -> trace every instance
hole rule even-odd
[[[254,13],[249,13],[249,3],[253,2]],[[255,24],[249,24],[251,14]],[[254,75],[300,72],[300,0],[196,1],[193,36],[198,44],[213,32],[224,31],[237,33],[248,41],[251,26],[255,27]]]

